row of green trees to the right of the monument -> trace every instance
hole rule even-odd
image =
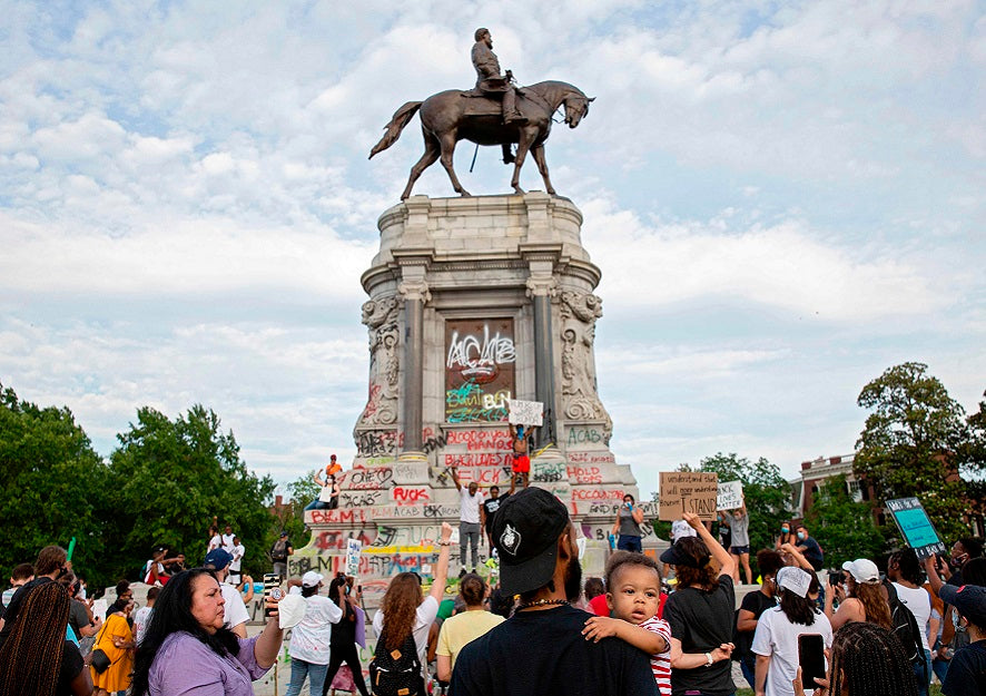
[[[883,526],[875,522],[884,501],[895,498],[920,500],[947,545],[969,536],[973,518],[986,513],[986,401],[967,416],[945,385],[928,374],[927,365],[908,362],[866,384],[857,404],[870,413],[856,442],[852,472],[861,486],[872,488],[874,496],[856,501],[845,476],[806,493],[814,500],[805,523],[825,549],[826,565],[875,559],[904,546],[889,516]],[[762,457],[750,461],[720,452],[694,468],[680,464],[679,470],[742,481],[751,561],[757,550],[773,548],[781,522],[800,514],[780,469]],[[659,537],[667,539],[669,530],[670,522],[654,522]]]

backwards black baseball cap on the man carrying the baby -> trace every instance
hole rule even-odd
[[[548,585],[554,575],[558,539],[569,511],[546,490],[531,487],[509,496],[493,518],[493,545],[500,553],[500,587],[520,595]]]

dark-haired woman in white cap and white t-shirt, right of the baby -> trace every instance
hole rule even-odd
[[[808,597],[812,586],[814,591],[818,591],[818,577],[787,566],[777,571],[776,581],[780,606],[760,615],[753,634],[756,696],[793,696],[791,680],[798,673],[801,636],[810,634],[820,638],[816,657],[822,656],[822,650],[832,645],[832,627],[828,618]],[[821,659],[824,665],[825,658]]]

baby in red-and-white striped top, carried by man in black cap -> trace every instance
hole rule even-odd
[[[582,635],[599,643],[615,636],[651,656],[661,696],[671,696],[671,627],[658,618],[661,574],[642,553],[617,551],[607,562],[607,605],[614,618],[594,616]]]

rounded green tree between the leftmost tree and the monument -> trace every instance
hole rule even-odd
[[[115,542],[107,565],[118,577],[135,578],[157,543],[184,552],[189,565],[200,563],[213,516],[220,526],[231,525],[246,546],[244,572],[264,572],[274,482],[247,469],[215,412],[195,405],[172,421],[142,408],[137,423],[117,437],[107,490],[116,509]]]

